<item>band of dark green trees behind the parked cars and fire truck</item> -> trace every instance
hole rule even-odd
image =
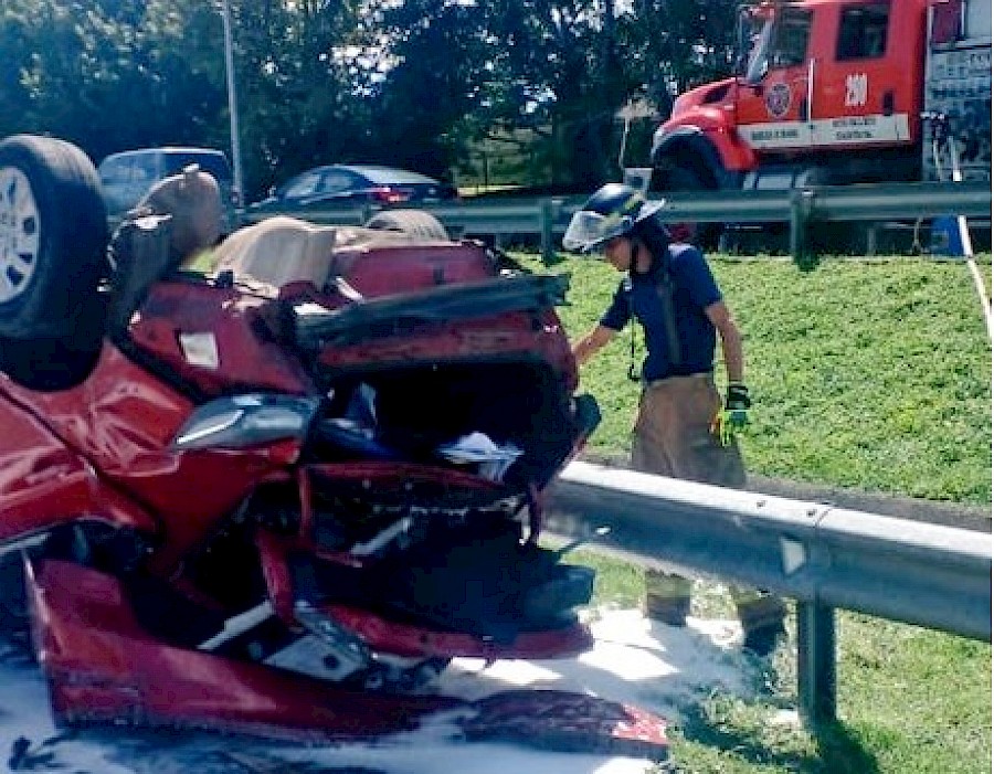
[[[380,161],[446,177],[488,138],[510,182],[620,174],[617,110],[725,74],[736,3],[639,0],[229,0],[246,193],[307,167]],[[94,160],[230,147],[218,0],[8,0],[0,136],[51,134]],[[655,121],[628,138],[646,160]],[[466,182],[466,181],[463,181]]]

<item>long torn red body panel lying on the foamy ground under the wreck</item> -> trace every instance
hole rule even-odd
[[[211,728],[305,743],[409,731],[463,704],[346,691],[264,666],[163,645],[119,581],[67,562],[28,564],[35,651],[61,723]]]

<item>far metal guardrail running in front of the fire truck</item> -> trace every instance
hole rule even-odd
[[[572,214],[585,197],[500,198],[461,204],[419,205],[434,214],[455,235],[511,235],[538,237],[542,255],[559,250]],[[787,223],[791,252],[800,258],[807,250],[807,234],[817,222],[880,222],[940,215],[991,218],[987,181],[920,182],[800,188],[776,191],[695,191],[666,195],[666,220],[691,223]],[[265,214],[244,213],[246,223],[273,214],[287,214],[314,223],[361,225],[379,208],[322,208]]]

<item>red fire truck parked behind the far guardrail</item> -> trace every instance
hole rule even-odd
[[[926,180],[937,150],[991,178],[991,0],[764,0],[739,51],[656,130],[655,190]]]

